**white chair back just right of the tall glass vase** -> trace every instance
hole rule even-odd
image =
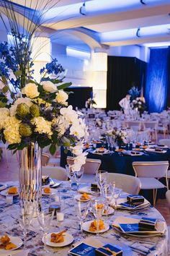
[[[42,175],[47,175],[59,181],[68,180],[66,169],[61,166],[42,166]]]

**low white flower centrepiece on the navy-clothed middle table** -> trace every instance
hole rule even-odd
[[[115,137],[115,142],[117,142],[117,145],[126,145],[126,132],[122,131],[121,129],[112,129],[107,131],[106,136],[112,136]]]

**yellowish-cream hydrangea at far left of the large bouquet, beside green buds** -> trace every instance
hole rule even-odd
[[[4,121],[4,137],[9,144],[21,142],[21,136],[19,135],[20,122],[14,116],[8,116]]]

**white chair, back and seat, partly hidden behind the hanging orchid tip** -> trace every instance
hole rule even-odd
[[[73,157],[67,157],[67,163],[69,165],[73,165]],[[99,166],[101,165],[101,160],[99,159],[91,159],[86,158],[86,163],[83,165],[84,167],[84,175],[81,178],[82,183],[91,183],[95,182],[96,172],[99,170]]]

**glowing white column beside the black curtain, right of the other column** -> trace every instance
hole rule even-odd
[[[107,105],[107,53],[91,53],[91,85],[94,92],[94,101],[97,108],[106,108]]]

